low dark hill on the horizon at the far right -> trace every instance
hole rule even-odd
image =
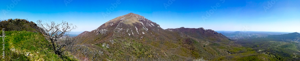
[[[298,32],[293,32],[289,34],[282,34],[282,35],[269,35],[270,38],[286,38],[286,39],[296,39],[300,37]]]

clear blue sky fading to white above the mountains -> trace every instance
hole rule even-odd
[[[1,0],[0,18],[48,23],[64,20],[78,26],[72,32],[83,32],[135,13],[163,29],[300,32],[299,3],[299,0]],[[113,10],[103,15],[110,8]]]

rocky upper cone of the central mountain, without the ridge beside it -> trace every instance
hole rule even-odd
[[[129,13],[120,17],[116,17],[115,19],[104,23],[91,32],[82,32],[81,34],[79,34],[79,36],[88,36],[87,38],[89,40],[95,37],[110,38],[114,35],[122,35],[131,38],[142,38],[147,36],[154,37],[155,34],[160,33],[159,30],[164,29],[160,28],[160,25],[146,19],[143,16]],[[96,39],[94,40],[96,41]],[[97,41],[100,40],[103,39],[97,39]]]

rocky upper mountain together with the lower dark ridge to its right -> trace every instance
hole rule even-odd
[[[133,18],[134,17],[134,18]],[[139,20],[139,21],[137,21]],[[127,22],[126,22],[127,21]],[[109,25],[108,25],[109,24]],[[180,30],[177,30],[180,29]],[[177,31],[177,33],[182,34],[180,32],[184,32],[184,33],[188,33],[188,34],[182,34],[181,36],[184,37],[189,37],[189,35],[193,35],[193,33],[187,32],[185,31],[185,29],[188,30],[196,30],[195,32],[197,32],[197,35],[192,36],[193,38],[201,38],[204,39],[202,37],[205,38],[217,38],[217,37],[221,37],[222,39],[229,39],[226,36],[222,35],[221,33],[215,32],[214,30],[211,29],[204,29],[204,28],[184,28],[184,27],[180,27],[180,28],[176,28],[176,29],[162,29],[160,27],[160,25],[152,22],[151,20],[146,19],[143,16],[140,16],[138,14],[134,14],[134,13],[129,13],[120,17],[116,17],[112,20],[109,20],[108,22],[104,23],[103,25],[99,26],[97,29],[92,30],[91,32],[85,31],[82,32],[81,34],[79,34],[79,37],[81,37],[84,34],[89,34],[89,36],[102,36],[101,38],[110,38],[113,35],[126,35],[128,37],[134,36],[135,38],[137,37],[149,37],[150,38],[154,37],[154,34],[162,34],[166,31],[171,31],[175,30]],[[200,32],[201,30],[201,32]],[[109,33],[109,34],[106,34]],[[122,34],[120,34],[122,33]],[[91,35],[93,34],[93,35]],[[147,35],[150,34],[150,35]],[[211,34],[211,35],[210,35]],[[147,36],[144,36],[147,35]],[[200,35],[200,36],[198,36]],[[213,37],[209,37],[209,36],[213,36]],[[221,38],[218,38],[218,40],[220,41]],[[93,37],[94,38],[94,37]]]

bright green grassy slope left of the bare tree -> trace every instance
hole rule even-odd
[[[1,61],[70,61],[67,56],[58,57],[52,52],[40,33],[28,31],[5,31],[5,59]],[[1,50],[3,51],[3,50]],[[28,55],[27,55],[28,54]],[[75,60],[75,59],[74,59]]]

